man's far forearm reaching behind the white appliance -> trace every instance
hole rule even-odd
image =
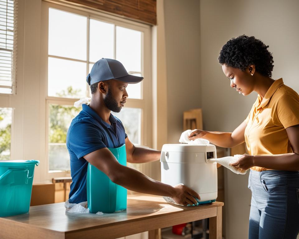
[[[131,162],[132,163],[147,163],[160,160],[161,151],[149,148],[135,147]]]

